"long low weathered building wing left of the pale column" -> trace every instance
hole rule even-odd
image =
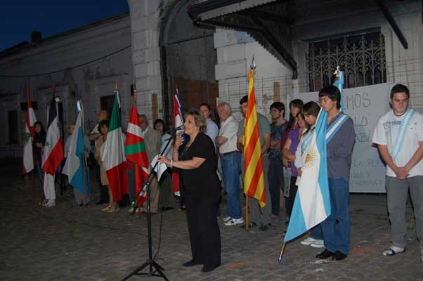
[[[44,126],[53,84],[63,128],[76,121],[76,102],[82,100],[88,133],[96,124],[96,112],[111,110],[115,84],[122,94],[122,119],[127,120],[134,84],[131,57],[129,13],[1,52],[0,157],[22,157],[27,86]]]

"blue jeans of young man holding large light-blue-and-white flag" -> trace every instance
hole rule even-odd
[[[333,253],[349,254],[349,182],[344,178],[329,178],[329,193],[331,214],[320,224],[325,247]]]

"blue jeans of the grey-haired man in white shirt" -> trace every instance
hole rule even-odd
[[[221,164],[228,204],[228,216],[231,218],[242,218],[240,202],[241,153],[222,156]]]

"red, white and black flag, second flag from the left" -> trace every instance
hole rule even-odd
[[[54,176],[63,160],[63,144],[58,125],[58,100],[59,98],[53,98],[51,100],[50,110],[48,110],[48,129],[42,164],[43,171],[51,174],[51,176]]]

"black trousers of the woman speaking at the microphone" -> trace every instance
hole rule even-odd
[[[221,264],[221,233],[216,219],[218,198],[193,200],[187,193],[183,197],[193,261],[215,268]]]

